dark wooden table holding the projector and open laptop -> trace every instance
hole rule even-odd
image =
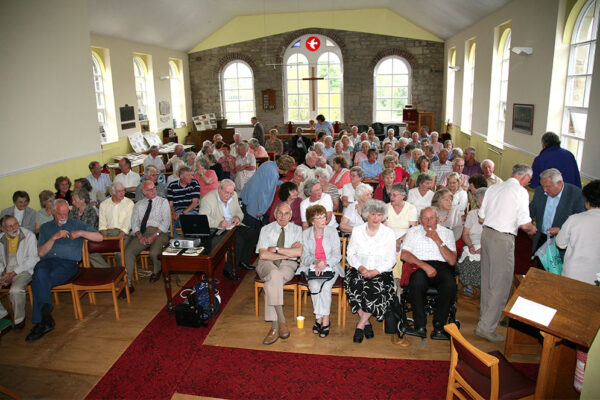
[[[231,264],[235,265],[235,231],[236,228],[225,231],[220,236],[214,236],[203,244],[204,251],[198,256],[165,256],[161,255],[162,273],[167,294],[167,309],[173,310],[173,294],[171,292],[171,272],[191,271],[204,272],[208,277],[211,314],[215,315],[215,268],[231,250]]]

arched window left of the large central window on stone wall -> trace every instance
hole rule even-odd
[[[254,76],[250,66],[241,60],[231,61],[223,68],[221,84],[227,122],[249,124],[255,115]]]

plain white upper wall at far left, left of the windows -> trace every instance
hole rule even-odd
[[[85,1],[0,2],[0,176],[101,150],[89,54]]]

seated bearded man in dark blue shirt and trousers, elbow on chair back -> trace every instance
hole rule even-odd
[[[25,338],[26,342],[39,340],[54,329],[50,290],[75,276],[77,264],[81,261],[84,239],[102,241],[102,235],[94,228],[79,220],[68,218],[69,203],[65,200],[54,200],[52,214],[54,220],[46,222],[40,228],[40,261],[35,265],[31,280],[32,321],[36,325]]]

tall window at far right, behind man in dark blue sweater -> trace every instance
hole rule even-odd
[[[583,6],[575,22],[569,51],[561,142],[575,155],[579,164],[590,101],[599,8],[598,0],[589,0]]]

